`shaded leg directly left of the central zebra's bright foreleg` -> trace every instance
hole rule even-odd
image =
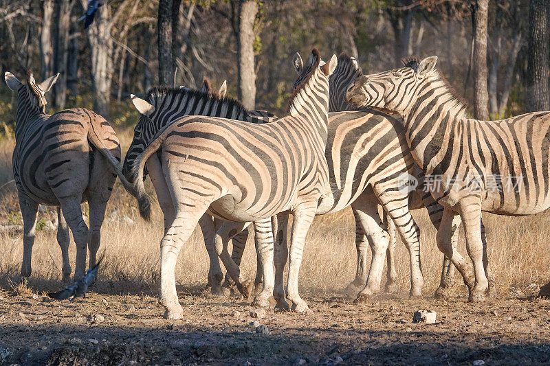
[[[274,242],[274,263],[275,263],[275,288],[273,297],[277,302],[276,308],[290,311],[290,305],[285,299],[285,265],[288,260],[287,227],[288,212],[277,215],[277,231]]]

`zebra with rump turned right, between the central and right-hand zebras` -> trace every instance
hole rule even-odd
[[[296,54],[294,66],[300,75],[303,62],[299,54]],[[342,103],[347,91],[346,82],[354,80],[360,73],[359,65],[355,60],[344,54],[340,55],[338,66],[329,78],[331,86],[329,106],[351,108],[349,104]],[[298,77],[295,87],[300,84],[300,80],[301,78]],[[342,82],[342,80],[346,81]],[[412,161],[399,123],[393,117],[373,110],[329,113],[326,157],[332,194],[320,203],[317,214],[335,212],[351,205],[356,220],[355,243],[358,250],[358,268],[355,279],[347,288],[349,293],[355,291],[357,294],[357,291],[362,289],[358,295],[358,301],[362,301],[377,293],[380,288],[384,251],[389,248],[388,233],[380,229],[382,223],[377,214],[377,204],[381,203],[384,210],[390,213],[388,216],[395,219],[397,229],[410,251],[412,282],[410,295],[420,295],[418,231],[408,209],[426,207],[432,223],[437,228],[441,221],[443,207],[434,201],[429,193],[423,192],[423,172]],[[407,172],[418,183],[416,189],[410,194],[401,186],[402,176]],[[388,222],[393,222],[394,219]],[[280,222],[284,232],[285,221],[280,220]],[[366,239],[369,240],[373,251],[368,277],[366,276]],[[453,247],[456,247],[456,239],[456,235],[450,238]],[[485,240],[485,236],[483,239]],[[390,240],[395,243],[391,238]],[[280,241],[277,240],[277,242]],[[281,249],[281,258],[276,258],[276,268],[279,267],[276,271],[276,291],[281,291],[282,268],[286,261],[285,248]],[[452,285],[454,267],[449,266],[448,263],[448,260],[444,262],[441,285],[436,292],[437,297],[445,297],[448,288]],[[415,277],[417,273],[419,276]],[[488,264],[487,275],[492,278]],[[392,288],[395,286],[395,276],[395,264],[391,253],[391,257],[388,257],[386,289],[397,290]]]

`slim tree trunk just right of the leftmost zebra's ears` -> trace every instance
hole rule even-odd
[[[59,78],[54,84],[53,104],[65,108],[67,100],[67,52],[69,49],[69,28],[71,26],[71,2],[54,1],[54,73]]]

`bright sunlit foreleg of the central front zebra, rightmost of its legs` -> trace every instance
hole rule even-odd
[[[286,299],[291,304],[291,310],[296,312],[307,312],[309,310],[307,303],[298,293],[298,275],[300,273],[300,265],[302,264],[305,238],[311,222],[315,218],[317,202],[318,198],[315,200],[305,198],[294,210],[294,222],[292,223],[292,236],[290,238]]]

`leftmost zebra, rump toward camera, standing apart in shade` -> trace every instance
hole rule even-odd
[[[17,119],[13,175],[23,216],[23,264],[21,276],[32,273],[34,227],[39,204],[57,206],[57,240],[63,258],[63,279],[69,279],[69,229],[76,242],[74,276],[82,277],[89,248],[89,267],[96,264],[100,229],[105,207],[117,174],[129,192],[131,183],[120,171],[120,144],[109,123],[85,108],[67,109],[47,115],[45,93],[59,74],[37,84],[28,74],[26,84],[12,73],[5,82],[17,91]],[[87,201],[90,229],[82,217],[80,203]],[[67,227],[68,225],[68,227]]]

